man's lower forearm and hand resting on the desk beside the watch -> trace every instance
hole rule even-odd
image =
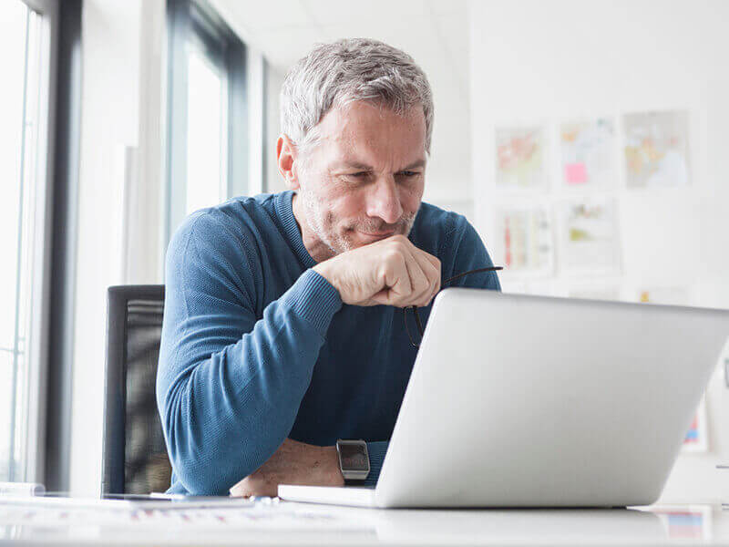
[[[231,496],[275,497],[279,484],[344,486],[336,447],[315,447],[286,439],[258,470],[231,488]]]

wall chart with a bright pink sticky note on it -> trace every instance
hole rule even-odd
[[[611,119],[560,126],[562,182],[570,188],[608,187],[615,181],[615,124]]]

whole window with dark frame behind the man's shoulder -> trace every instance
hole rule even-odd
[[[209,5],[169,0],[168,239],[185,216],[246,192],[245,47]]]

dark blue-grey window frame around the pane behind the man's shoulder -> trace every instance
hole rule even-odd
[[[186,216],[188,75],[187,43],[225,75],[227,135],[223,139],[224,199],[249,188],[247,47],[204,0],[167,0],[168,74],[165,160],[165,246]]]

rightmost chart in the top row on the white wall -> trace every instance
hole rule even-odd
[[[689,183],[688,125],[685,110],[624,116],[628,188],[666,188]]]

